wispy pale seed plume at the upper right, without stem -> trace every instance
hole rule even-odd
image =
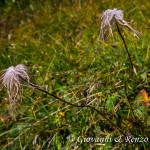
[[[122,25],[123,27],[127,27],[130,31],[133,32],[135,36],[138,37],[138,35],[142,35],[140,32],[134,30],[127,21],[124,20],[124,13],[122,10],[118,10],[117,8],[114,8],[113,10],[108,9],[105,12],[103,12],[100,15],[101,21],[101,29],[100,29],[100,36],[102,37],[103,40],[108,38],[108,36],[111,34],[112,38],[113,37],[113,26],[114,23],[117,22],[118,24]],[[109,32],[108,36],[105,37],[106,31]]]

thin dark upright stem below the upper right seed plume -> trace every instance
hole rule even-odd
[[[126,94],[126,97],[127,97],[127,100],[128,100],[129,106],[130,106],[130,109],[131,109],[131,111],[132,111],[132,114],[133,114],[133,116],[134,116],[134,119],[137,120],[137,119],[136,119],[136,116],[135,116],[135,114],[134,114],[134,111],[133,111],[131,102],[130,102],[130,98],[129,98],[128,93],[127,93],[127,83],[128,83],[128,81],[131,79],[131,77],[133,76],[134,66],[133,66],[132,59],[131,59],[131,56],[130,56],[130,54],[129,54],[129,51],[128,51],[126,42],[125,42],[125,40],[124,40],[124,37],[122,36],[122,34],[121,34],[121,32],[120,32],[120,29],[119,29],[119,26],[118,26],[117,21],[116,21],[116,26],[117,26],[117,30],[118,30],[119,36],[121,37],[121,39],[122,39],[122,41],[123,41],[123,44],[124,44],[124,46],[125,46],[126,52],[127,52],[127,54],[128,54],[128,57],[129,57],[129,60],[130,60],[131,66],[132,66],[131,75],[130,75],[129,78],[125,81],[124,88],[125,88],[125,94]]]

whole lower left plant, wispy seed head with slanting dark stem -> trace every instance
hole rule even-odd
[[[96,108],[94,108],[90,105],[80,105],[79,106],[79,105],[69,103],[69,102],[63,100],[62,98],[59,98],[59,97],[49,93],[48,91],[41,89],[39,86],[31,83],[29,75],[27,73],[27,68],[22,64],[19,64],[16,67],[11,66],[8,69],[6,69],[6,72],[4,73],[4,76],[1,78],[1,80],[2,80],[2,85],[3,85],[3,87],[5,87],[7,89],[7,92],[9,94],[9,97],[11,98],[12,102],[16,99],[19,89],[23,90],[23,87],[22,87],[23,85],[29,85],[29,86],[35,88],[36,90],[46,93],[68,105],[71,105],[74,107],[82,107],[82,108],[88,107],[88,108],[96,111],[103,118],[105,118],[114,128],[116,128],[122,135],[125,135],[125,133],[122,131],[121,128],[119,128],[117,125],[115,125],[104,113],[100,112]],[[23,84],[21,84],[21,83],[23,83]],[[12,96],[14,96],[14,93],[16,95],[15,95],[15,97],[12,98]]]

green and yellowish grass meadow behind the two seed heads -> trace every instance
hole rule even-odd
[[[43,89],[77,105],[91,102],[124,133],[150,140],[148,0],[10,0],[0,7],[0,70],[25,64],[32,82]],[[131,65],[117,30],[115,44],[111,37],[107,43],[97,40],[98,18],[113,8],[122,9],[125,20],[133,21],[131,26],[144,35],[135,39],[121,30],[136,72],[128,82],[128,95],[141,127],[133,122],[124,91]],[[23,102],[18,99],[13,117],[6,89],[0,92],[0,100],[0,148],[4,150],[149,148],[149,142],[115,142],[121,134],[96,111],[69,106],[30,87],[24,87]],[[79,136],[110,136],[112,142],[78,145]]]

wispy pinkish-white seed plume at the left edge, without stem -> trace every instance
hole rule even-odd
[[[0,81],[2,83],[2,88],[6,88],[10,103],[16,99],[18,93],[22,95],[22,86],[29,83],[29,75],[27,74],[26,66],[19,64],[16,67],[11,66],[6,70],[1,72]]]

